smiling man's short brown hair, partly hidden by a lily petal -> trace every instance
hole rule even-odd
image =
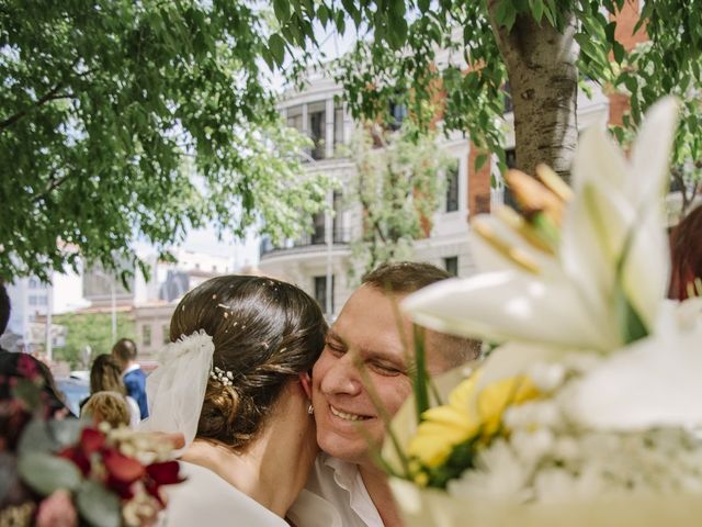
[[[372,287],[388,294],[405,295],[449,278],[453,277],[431,264],[399,261],[381,265],[365,274],[361,282],[363,285]],[[432,341],[441,351],[449,367],[460,366],[467,360],[477,359],[480,355],[479,340],[430,330],[427,333],[427,343]]]

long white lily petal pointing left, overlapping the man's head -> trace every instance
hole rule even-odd
[[[431,329],[497,340],[604,350],[613,338],[607,312],[586,311],[571,282],[514,271],[443,280],[410,294],[401,307]],[[604,328],[604,329],[603,329]]]

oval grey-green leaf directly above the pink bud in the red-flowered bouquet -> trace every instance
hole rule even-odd
[[[82,481],[82,474],[72,461],[45,452],[20,456],[18,471],[22,481],[43,496],[59,489],[75,491]]]

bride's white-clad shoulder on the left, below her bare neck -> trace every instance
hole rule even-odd
[[[183,483],[167,486],[168,506],[163,526],[256,525],[287,527],[283,518],[247,496],[204,467],[179,461]]]

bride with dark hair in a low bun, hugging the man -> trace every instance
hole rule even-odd
[[[303,491],[317,455],[308,372],[326,329],[317,303],[278,280],[218,277],[183,298],[141,426],[185,437],[165,525],[340,525]]]

